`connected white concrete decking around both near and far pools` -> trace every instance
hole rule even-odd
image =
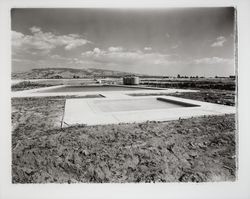
[[[102,96],[103,98],[72,98],[66,99],[62,126],[77,124],[85,125],[106,125],[118,123],[133,123],[145,121],[169,121],[179,118],[190,118],[204,115],[223,115],[236,112],[236,108],[196,100],[162,96],[160,94],[169,94],[175,92],[199,92],[189,89],[158,89],[148,88],[135,90],[117,90],[117,91],[91,91],[91,92],[41,92],[48,89],[62,88],[65,85],[51,86],[46,88],[31,89],[25,91],[12,92],[12,97],[53,97],[53,96]],[[135,87],[134,87],[135,88]],[[154,94],[154,96],[130,96],[130,94]],[[157,96],[158,94],[158,96]],[[178,107],[178,108],[157,108],[145,110],[129,111],[100,111],[95,102],[109,102],[115,100],[140,100],[161,97],[166,100],[174,100],[179,103],[188,103],[198,105],[196,107]]]

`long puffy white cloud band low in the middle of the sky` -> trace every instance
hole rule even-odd
[[[168,68],[172,70],[182,65],[179,57],[172,54],[135,49],[123,49],[120,52],[111,52],[108,49],[99,50],[98,52],[94,49],[83,52],[78,63],[85,67],[140,72],[142,74],[159,74],[158,70],[168,71]]]

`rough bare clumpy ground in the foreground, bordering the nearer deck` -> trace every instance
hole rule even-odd
[[[64,103],[12,99],[13,183],[236,179],[235,115],[62,129]]]

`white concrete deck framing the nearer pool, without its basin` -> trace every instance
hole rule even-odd
[[[161,96],[161,98],[174,100],[182,103],[199,105],[197,107],[181,107],[171,109],[152,109],[135,111],[102,112],[96,108],[96,101],[109,101],[111,99],[131,99],[133,97],[120,95],[113,98],[101,99],[67,99],[63,119],[63,127],[77,124],[85,125],[106,125],[119,123],[133,123],[145,121],[169,121],[179,118],[190,118],[204,115],[223,115],[235,113],[235,107],[201,102],[196,100],[183,99],[172,96]],[[142,96],[136,99],[156,98],[156,96]]]

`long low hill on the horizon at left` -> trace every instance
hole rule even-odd
[[[73,69],[73,68],[39,68],[27,72],[12,73],[12,79],[71,79],[93,77],[123,77],[136,75],[134,73],[103,70],[103,69]]]

